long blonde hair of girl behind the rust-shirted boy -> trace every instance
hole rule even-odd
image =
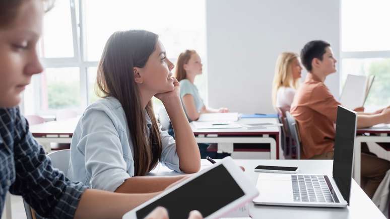
[[[299,80],[293,79],[291,68],[292,62],[298,57],[298,54],[294,52],[283,52],[276,61],[274,82],[272,84],[272,104],[275,108],[276,94],[280,87],[298,88]]]

